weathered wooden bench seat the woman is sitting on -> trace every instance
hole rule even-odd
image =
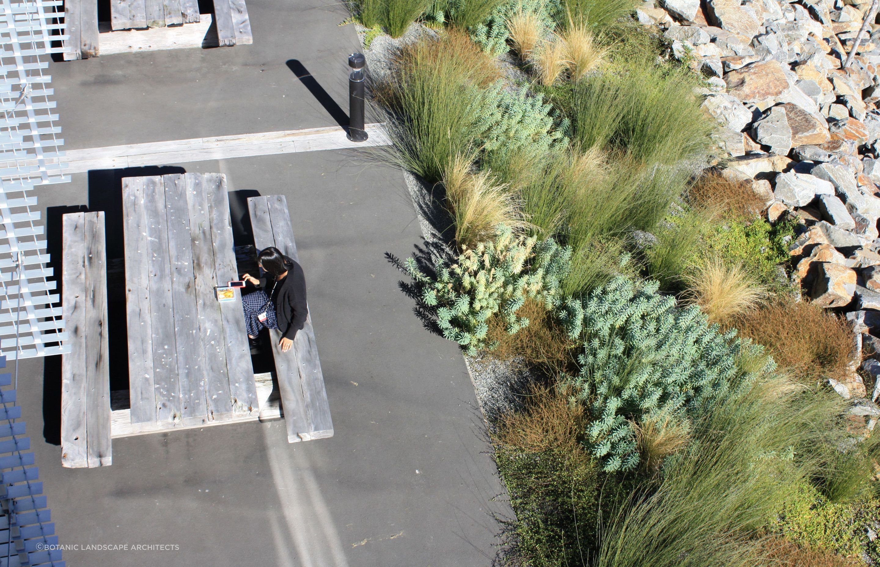
[[[284,195],[251,197],[247,200],[247,207],[257,250],[276,247],[298,262],[297,244]],[[277,329],[272,329],[270,336],[288,442],[333,437],[333,421],[312,328],[312,313],[306,318],[304,328],[297,332],[293,348],[287,352],[282,352],[278,346],[281,333]]]

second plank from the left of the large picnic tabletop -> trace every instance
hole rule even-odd
[[[153,381],[157,421],[179,423],[180,383],[177,347],[174,344],[174,307],[168,230],[165,217],[165,183],[161,177],[143,178],[143,205],[147,218],[147,255],[150,290],[150,324],[153,343]]]

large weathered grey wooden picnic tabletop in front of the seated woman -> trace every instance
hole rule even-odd
[[[226,178],[122,180],[132,431],[253,420],[259,414]]]

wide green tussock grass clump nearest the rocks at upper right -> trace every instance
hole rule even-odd
[[[576,141],[667,166],[708,151],[715,126],[700,111],[692,88],[684,71],[650,62],[635,62],[621,75],[585,77],[574,87],[569,112]]]

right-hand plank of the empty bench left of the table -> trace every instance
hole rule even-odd
[[[104,211],[85,213],[86,446],[89,467],[113,463],[110,367],[107,365],[107,279]]]

